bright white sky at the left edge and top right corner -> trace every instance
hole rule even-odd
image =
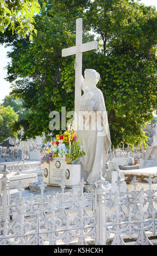
[[[141,3],[146,5],[154,5],[157,9],[157,0],[141,0]],[[9,62],[9,58],[7,58],[7,51],[10,50],[10,47],[5,48],[3,45],[0,45],[0,103],[4,97],[9,95],[9,92],[11,92],[11,84],[4,80],[4,78],[7,76],[7,70],[4,70],[4,67]]]

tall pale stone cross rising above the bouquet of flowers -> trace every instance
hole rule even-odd
[[[97,41],[82,43],[83,37],[83,19],[76,20],[76,46],[62,49],[62,57],[76,54],[75,63],[75,96],[74,96],[74,111],[78,113],[80,110],[81,98],[81,75],[82,75],[82,53],[97,48]]]

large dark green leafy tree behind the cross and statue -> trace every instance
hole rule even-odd
[[[29,109],[24,139],[48,134],[49,112],[74,108],[74,56],[62,48],[75,45],[76,19],[83,18],[83,42],[97,37],[98,50],[83,53],[83,71],[96,69],[108,111],[113,145],[145,141],[142,131],[157,109],[157,13],[134,0],[42,0],[34,17],[37,36],[15,37],[7,66],[12,95]],[[89,33],[92,31],[92,33]]]

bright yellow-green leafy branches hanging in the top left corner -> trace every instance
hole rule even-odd
[[[0,0],[0,32],[9,29],[19,36],[29,35],[32,40],[34,28],[34,13],[39,13],[40,5],[37,0]]]

